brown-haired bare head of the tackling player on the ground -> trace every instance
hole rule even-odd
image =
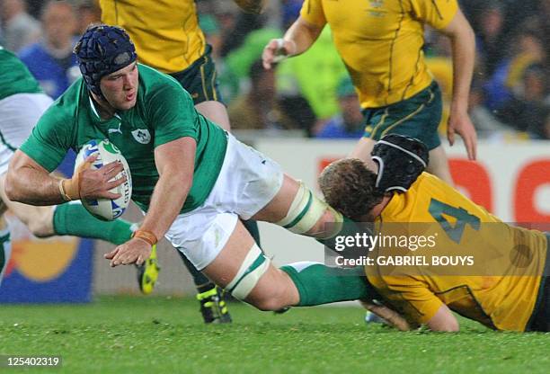
[[[359,158],[334,161],[319,176],[324,200],[353,220],[372,218],[371,210],[384,198],[376,183],[377,174]]]

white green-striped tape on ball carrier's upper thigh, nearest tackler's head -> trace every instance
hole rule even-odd
[[[300,183],[296,197],[290,204],[287,217],[277,225],[287,228],[295,234],[305,234],[323,217],[328,205],[319,200],[303,183]]]

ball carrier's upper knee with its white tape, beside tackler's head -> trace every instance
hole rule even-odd
[[[300,183],[287,216],[277,224],[295,234],[325,238],[337,233],[339,231],[337,227],[342,224],[342,221],[342,214],[317,198],[304,183]],[[335,225],[330,225],[331,223]]]

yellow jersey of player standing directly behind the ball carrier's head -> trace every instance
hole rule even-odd
[[[193,0],[100,0],[102,22],[128,31],[143,64],[176,73],[204,54]]]

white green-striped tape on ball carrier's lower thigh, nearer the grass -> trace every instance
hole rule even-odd
[[[235,298],[244,300],[256,286],[262,275],[270,267],[270,259],[262,254],[262,250],[254,243],[241,264],[235,278],[227,284],[226,289]]]

